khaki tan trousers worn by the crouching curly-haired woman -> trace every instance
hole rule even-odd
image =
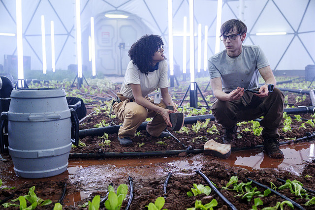
[[[122,100],[122,102],[116,102],[113,105],[115,115],[119,120],[123,121],[123,126],[121,126],[118,131],[119,138],[130,137],[130,139],[133,139],[137,128],[147,118],[153,118],[153,120],[147,124],[147,131],[151,136],[159,136],[166,128],[166,123],[159,113],[148,110],[136,102],[130,102],[129,98],[120,93],[118,93],[117,96]],[[154,99],[149,97],[146,99],[154,103]],[[166,107],[166,104],[162,100],[156,105],[163,108]]]

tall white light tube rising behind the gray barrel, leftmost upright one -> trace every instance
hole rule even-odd
[[[16,0],[16,40],[18,51],[18,79],[24,80],[23,69],[23,33],[22,33],[22,2]],[[21,88],[20,86],[18,86]]]

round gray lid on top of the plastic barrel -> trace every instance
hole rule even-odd
[[[60,88],[18,89],[11,92],[11,98],[55,98],[65,95],[64,89]]]

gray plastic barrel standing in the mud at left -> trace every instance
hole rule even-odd
[[[17,176],[44,178],[67,169],[71,113],[65,95],[63,89],[12,90],[8,150]]]

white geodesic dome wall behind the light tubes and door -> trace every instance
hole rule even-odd
[[[216,0],[195,0],[195,33],[198,23],[208,30],[208,57],[215,48]],[[244,22],[248,36],[244,44],[259,45],[275,70],[305,69],[315,64],[315,0],[245,0]],[[307,8],[306,12],[305,9]],[[90,27],[90,17],[108,10],[133,13],[168,43],[167,0],[81,0],[82,31]],[[238,18],[239,1],[223,0],[222,23]],[[304,15],[305,12],[305,15]],[[58,14],[58,15],[57,15]],[[40,16],[45,15],[47,68],[51,70],[50,21],[55,23],[56,69],[66,69],[76,63],[75,1],[74,0],[22,0],[24,56],[31,56],[32,69],[42,69]],[[173,0],[173,33],[182,33],[183,17],[188,17],[189,1]],[[259,17],[259,18],[258,18]],[[0,32],[16,33],[15,1],[0,0]],[[257,19],[258,18],[258,19]],[[303,18],[303,20],[302,20]],[[301,21],[302,20],[302,21]],[[287,35],[256,36],[256,32],[286,31]],[[311,31],[311,32],[308,32]],[[203,35],[202,35],[203,39]],[[189,37],[188,37],[189,52]],[[0,64],[4,55],[16,55],[16,36],[0,36]],[[167,51],[168,48],[166,48]],[[197,37],[195,37],[195,50]],[[224,46],[221,43],[221,50]],[[197,51],[195,51],[197,67]],[[202,41],[203,68],[203,41]],[[168,52],[166,52],[168,55]],[[189,55],[187,55],[189,68]],[[110,61],[109,61],[110,62]],[[183,37],[174,36],[174,63],[183,68]],[[90,65],[89,63],[84,63]],[[97,69],[96,69],[97,71]]]

